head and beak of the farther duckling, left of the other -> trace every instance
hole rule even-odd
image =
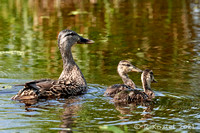
[[[142,70],[135,67],[127,60],[120,61],[118,64],[117,70],[119,73],[123,73],[123,74],[126,74],[128,72],[142,72]]]

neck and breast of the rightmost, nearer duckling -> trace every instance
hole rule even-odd
[[[142,86],[143,86],[144,92],[149,96],[149,98],[155,97],[154,92],[151,89],[151,83],[148,83],[144,77],[142,78]]]

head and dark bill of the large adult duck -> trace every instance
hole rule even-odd
[[[74,44],[91,44],[94,41],[85,39],[82,36],[78,35],[76,32],[72,30],[65,29],[61,31],[58,35],[58,46],[62,47],[72,47]],[[65,46],[66,45],[66,46]]]

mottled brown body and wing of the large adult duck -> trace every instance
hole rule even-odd
[[[86,90],[86,86],[78,86],[66,80],[41,79],[25,83],[13,100],[43,99],[55,97],[68,97],[79,95]]]

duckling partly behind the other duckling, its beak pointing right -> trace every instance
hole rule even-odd
[[[128,77],[129,72],[142,72],[139,68],[133,66],[131,62],[127,60],[122,60],[119,62],[117,66],[117,72],[119,76],[122,78],[122,81],[124,84],[114,84],[110,87],[108,87],[104,93],[104,96],[110,96],[114,97],[115,94],[122,90],[128,90],[128,89],[135,89],[136,85],[135,83]]]

